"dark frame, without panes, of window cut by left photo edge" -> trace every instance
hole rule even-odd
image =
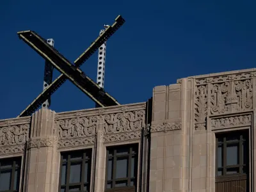
[[[1,164],[3,162],[12,162],[12,167],[11,168],[1,168]],[[8,158],[3,158],[0,159],[0,175],[1,175],[1,170],[12,170],[11,173],[11,180],[10,180],[10,189],[9,190],[4,190],[0,192],[19,192],[20,191],[20,177],[21,177],[21,172],[22,172],[22,158],[21,157],[8,157]],[[17,189],[14,189],[15,187],[15,171],[18,171],[17,173]],[[0,176],[1,177],[1,176]]]

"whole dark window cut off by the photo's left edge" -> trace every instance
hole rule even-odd
[[[0,191],[19,191],[20,159],[0,159]]]

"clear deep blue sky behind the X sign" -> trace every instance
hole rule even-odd
[[[70,61],[117,15],[124,26],[107,43],[105,90],[121,104],[143,102],[180,77],[256,67],[256,1],[0,1],[0,119],[42,92],[44,60],[19,40],[34,30],[54,38]],[[96,79],[97,53],[81,67]],[[58,76],[54,72],[54,77]],[[52,95],[57,112],[93,108],[66,81]]]

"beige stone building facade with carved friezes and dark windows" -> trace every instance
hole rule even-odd
[[[146,102],[0,120],[0,191],[254,191],[255,86],[256,69],[237,70]]]

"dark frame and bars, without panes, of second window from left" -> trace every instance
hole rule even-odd
[[[74,154],[77,155],[78,153],[81,154],[81,159],[70,159],[70,157]],[[84,186],[88,186],[89,191],[91,188],[91,173],[92,173],[92,148],[87,148],[85,150],[72,150],[72,151],[65,151],[65,152],[61,152],[61,157],[60,157],[60,179],[59,179],[59,189],[58,191],[61,192],[61,189],[65,188],[65,192],[68,192],[70,189],[70,187],[74,186],[74,187],[78,187],[80,188],[79,191],[86,191],[84,190]],[[67,160],[63,160],[63,157],[66,156]],[[67,163],[67,168],[65,170],[65,184],[61,184],[61,171],[62,171],[62,166],[63,163]],[[80,182],[76,182],[76,183],[71,183],[69,182],[70,179],[70,165],[71,163],[81,163],[81,181]],[[84,182],[84,177],[86,176],[85,173],[85,164],[88,163],[88,181]],[[88,192],[89,192],[88,191]]]

